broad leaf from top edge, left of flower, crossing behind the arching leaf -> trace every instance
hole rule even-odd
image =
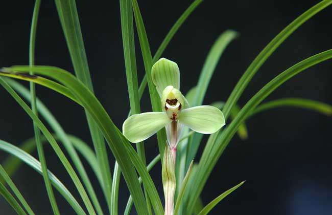
[[[92,81],[89,66],[85,54],[84,42],[80,27],[79,16],[75,0],[55,0],[63,33],[67,41],[70,58],[72,58],[75,74],[77,78],[93,93]],[[106,202],[110,210],[111,200],[111,168],[108,162],[108,155],[103,135],[98,129],[98,125],[86,112],[90,134],[96,151],[99,166],[103,176],[103,191],[106,194]]]

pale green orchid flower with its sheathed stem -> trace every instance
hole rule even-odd
[[[165,195],[165,214],[174,210],[176,148],[183,126],[191,130],[212,134],[217,132],[225,119],[223,113],[214,106],[190,107],[179,91],[180,71],[178,65],[168,59],[159,59],[152,67],[152,80],[161,99],[162,112],[135,114],[123,124],[124,136],[133,143],[141,142],[165,127],[167,145],[162,163],[162,181]]]

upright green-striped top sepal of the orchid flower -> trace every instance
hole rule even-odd
[[[171,85],[180,90],[180,70],[176,62],[166,58],[160,58],[152,66],[151,75],[160,98],[163,90],[167,86]]]

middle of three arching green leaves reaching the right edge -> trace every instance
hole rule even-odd
[[[321,52],[305,60],[302,60],[293,67],[280,73],[269,83],[267,83],[247,102],[247,104],[242,108],[239,114],[236,115],[235,119],[233,119],[233,121],[226,127],[225,131],[218,136],[215,144],[212,145],[212,148],[208,148],[207,146],[205,147],[198,167],[201,171],[197,171],[195,176],[193,176],[194,185],[191,189],[191,198],[188,201],[189,210],[192,210],[192,202],[196,201],[196,199],[200,195],[207,178],[209,177],[212,169],[216,165],[218,159],[228,145],[229,141],[236,133],[239,126],[244,122],[246,117],[255,109],[255,107],[260,102],[262,102],[268,95],[270,95],[275,89],[277,89],[282,83],[284,83],[291,77],[295,76],[296,74],[302,72],[307,68],[316,65],[319,62],[330,58],[332,58],[332,50],[327,50],[325,52]]]

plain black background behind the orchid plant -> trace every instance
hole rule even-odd
[[[129,110],[129,99],[119,3],[77,2],[94,89],[115,124],[120,127]],[[152,53],[191,2],[139,1]],[[227,47],[216,68],[204,104],[225,101],[259,51],[284,27],[316,3],[318,1],[205,1],[176,33],[163,57],[178,63],[181,91],[186,93],[197,83],[209,48],[219,34],[226,29],[239,31],[241,36]],[[33,1],[2,3],[1,67],[28,64],[32,11]],[[284,41],[254,76],[239,104],[244,105],[271,78],[296,62],[330,49],[331,20],[332,8],[329,7]],[[144,67],[138,42],[136,50],[138,75],[142,78]],[[36,63],[73,71],[53,1],[41,4]],[[331,71],[331,60],[320,63],[284,83],[267,100],[303,97],[331,104]],[[74,134],[91,145],[86,119],[80,106],[39,86],[37,94],[67,133]],[[151,110],[147,93],[141,101],[143,111]],[[4,89],[0,89],[0,104],[0,138],[18,145],[32,137],[30,118]],[[249,139],[241,141],[237,136],[233,138],[211,174],[202,199],[206,204],[240,181],[246,180],[246,183],[223,200],[211,214],[331,214],[331,119],[311,111],[280,108],[256,115],[247,122],[247,126]],[[146,141],[146,150],[148,160],[157,154],[155,137]],[[73,183],[51,147],[45,146],[45,153],[49,168],[78,197]],[[6,156],[1,152],[0,160],[4,160]],[[113,158],[111,159],[113,166]],[[162,195],[160,171],[158,164],[152,170],[152,177]],[[92,172],[89,170],[88,173],[93,184],[97,184]],[[23,165],[13,180],[37,214],[51,213],[40,175]],[[98,196],[103,199],[100,188],[96,186],[96,189]],[[55,193],[61,214],[73,214],[59,193]],[[128,198],[123,179],[120,193],[119,210],[122,213]],[[1,214],[14,214],[2,198],[0,208]]]

